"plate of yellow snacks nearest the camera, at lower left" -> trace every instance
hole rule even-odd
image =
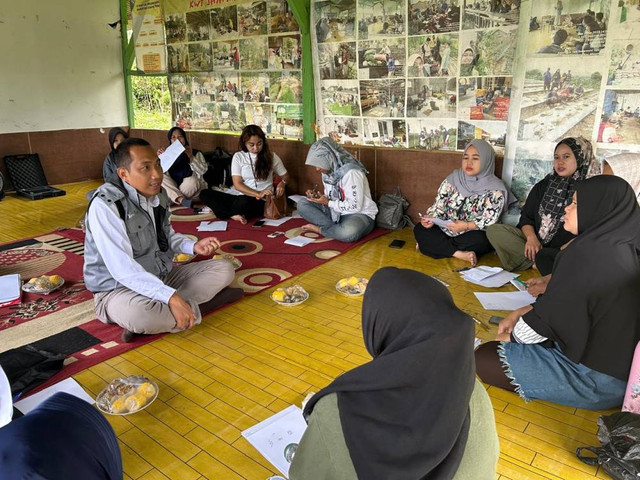
[[[109,415],[129,415],[147,408],[158,396],[158,385],[142,375],[116,378],[96,397],[96,405]]]

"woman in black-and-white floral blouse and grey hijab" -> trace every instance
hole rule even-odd
[[[475,265],[479,256],[493,250],[484,229],[500,218],[509,191],[493,174],[495,152],[484,140],[467,144],[461,167],[442,182],[413,233],[423,254]],[[446,224],[434,227],[434,220]]]

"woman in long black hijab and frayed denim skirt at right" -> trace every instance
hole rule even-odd
[[[476,351],[486,383],[572,407],[622,403],[640,340],[640,207],[621,178],[578,184],[564,228],[577,235],[556,257],[544,295],[512,312],[498,342]]]

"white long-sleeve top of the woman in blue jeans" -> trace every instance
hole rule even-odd
[[[349,170],[338,182],[340,199],[329,200],[329,208],[340,212],[340,215],[360,213],[373,219],[378,213],[378,206],[371,198],[369,181],[362,170]],[[324,192],[327,197],[333,190],[333,186],[324,183]]]

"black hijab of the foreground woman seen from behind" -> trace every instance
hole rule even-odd
[[[362,332],[373,359],[314,395],[305,418],[337,393],[358,478],[453,478],[475,381],[471,318],[433,278],[385,267],[365,292]]]

